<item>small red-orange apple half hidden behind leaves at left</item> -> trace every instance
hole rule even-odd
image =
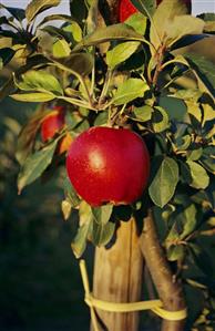
[[[53,111],[48,114],[41,124],[41,138],[45,143],[49,139],[53,138],[54,135],[60,132],[65,126],[65,112],[64,107],[55,106]],[[58,145],[58,154],[62,154],[70,148],[72,144],[72,137],[66,133]]]

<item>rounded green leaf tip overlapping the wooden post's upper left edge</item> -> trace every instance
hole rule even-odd
[[[95,246],[104,246],[106,245],[111,238],[113,237],[113,234],[115,231],[115,224],[114,223],[106,223],[106,224],[99,224],[96,220],[93,220],[93,229],[92,229],[92,242]]]

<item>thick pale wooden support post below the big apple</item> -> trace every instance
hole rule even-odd
[[[142,289],[143,257],[134,219],[121,223],[116,241],[110,248],[96,248],[93,296],[112,302],[139,301]],[[109,331],[137,331],[139,313],[115,313],[96,310]]]

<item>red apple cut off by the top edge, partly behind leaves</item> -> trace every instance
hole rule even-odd
[[[191,13],[192,0],[182,0],[182,1],[187,6],[188,12]],[[162,0],[156,0],[157,6],[161,2],[162,2]],[[119,4],[119,21],[120,22],[124,22],[129,17],[131,17],[135,12],[137,12],[137,9],[133,6],[133,3],[130,0],[120,0],[120,4]]]

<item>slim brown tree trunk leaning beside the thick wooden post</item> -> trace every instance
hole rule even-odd
[[[163,301],[164,309],[177,311],[186,308],[182,286],[174,280],[174,275],[172,273],[164,251],[160,246],[151,210],[149,211],[149,216],[144,219],[144,228],[140,237],[140,246],[160,299]],[[163,320],[161,330],[183,331],[184,320]]]

